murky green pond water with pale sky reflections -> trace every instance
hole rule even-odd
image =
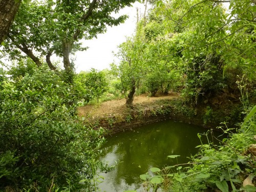
[[[201,144],[197,134],[206,132],[202,127],[167,120],[106,138],[100,160],[117,165],[112,172],[101,174],[104,181],[99,188],[106,192],[144,191],[141,174],[151,167],[177,164],[176,159],[167,159],[168,155],[180,155],[179,164],[188,162],[187,157],[195,155],[195,147]]]

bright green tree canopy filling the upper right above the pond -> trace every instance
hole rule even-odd
[[[229,3],[228,9],[222,4],[225,2]],[[254,2],[177,0],[151,3],[153,8],[140,21],[142,27],[136,32],[137,35],[141,31],[142,44],[136,38],[127,39],[126,44],[134,44],[129,49],[131,53],[142,45],[143,51],[136,56],[143,58],[138,68],[148,73],[144,82],[153,95],[167,76],[169,80],[176,77],[176,82],[165,83],[166,88],[183,82],[183,94],[193,103],[207,102],[210,97],[236,89],[236,80],[231,83],[230,79],[236,79],[238,74],[254,79]],[[120,46],[120,52],[122,50]],[[120,71],[123,71],[122,65],[123,61],[119,64]],[[133,75],[126,73],[126,76]]]

